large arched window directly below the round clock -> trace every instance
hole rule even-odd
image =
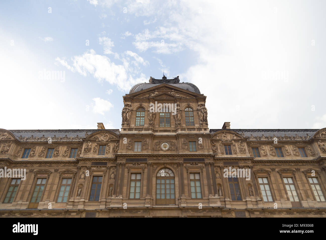
[[[156,205],[175,204],[174,174],[162,168],[156,174]]]

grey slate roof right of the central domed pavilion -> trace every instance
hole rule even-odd
[[[311,136],[313,136],[319,129],[210,129],[210,133],[216,133],[218,131],[227,131],[231,130],[233,132],[239,133],[244,137],[261,137],[264,135],[268,136],[288,136],[288,137],[299,137],[298,140],[308,140]],[[304,139],[303,139],[304,136]],[[307,138],[309,136],[309,138]],[[272,139],[271,139],[272,140]]]

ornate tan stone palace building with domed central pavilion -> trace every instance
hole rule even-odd
[[[179,77],[123,101],[121,131],[0,129],[0,216],[326,216],[326,128],[209,129]]]

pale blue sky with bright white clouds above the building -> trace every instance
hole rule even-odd
[[[179,76],[219,129],[326,127],[325,1],[0,1],[0,128],[121,128],[123,97]]]

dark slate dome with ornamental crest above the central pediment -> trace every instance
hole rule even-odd
[[[174,86],[177,88],[182,88],[182,89],[200,94],[200,90],[197,88],[197,86],[195,84],[180,83],[179,76],[177,76],[173,79],[167,79],[166,76],[163,76],[162,79],[155,79],[155,78],[151,77],[149,79],[149,83],[138,83],[135,86],[133,86],[130,89],[129,94],[134,93],[134,92],[139,92],[141,90],[145,90],[148,88],[152,88],[152,87],[158,86],[163,83],[169,84],[172,87]]]

